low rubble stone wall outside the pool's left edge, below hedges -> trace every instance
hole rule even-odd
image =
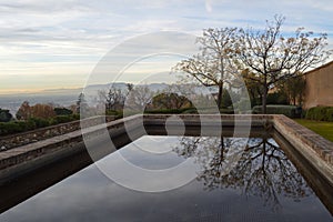
[[[102,121],[113,121],[115,118],[111,115],[107,117],[95,117],[90,118],[83,121],[88,121],[89,124],[100,124]],[[73,132],[75,130],[80,130],[80,120],[72,121],[68,123],[51,125],[48,128],[37,129],[29,132],[18,133],[13,135],[0,137],[0,152],[4,150],[9,150],[12,148],[26,145],[29,143],[34,143],[41,140],[46,140],[48,138],[53,138],[57,135],[65,134],[69,132]]]

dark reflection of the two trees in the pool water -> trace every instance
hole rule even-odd
[[[194,158],[202,171],[198,180],[205,189],[231,188],[260,196],[264,205],[278,210],[279,196],[300,201],[312,191],[273,139],[183,137],[174,151]]]

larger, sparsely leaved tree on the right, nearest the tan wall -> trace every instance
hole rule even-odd
[[[243,68],[253,75],[245,78],[262,85],[263,113],[266,113],[268,91],[279,81],[303,73],[309,68],[322,63],[330,54],[325,50],[326,34],[311,38],[313,32],[295,31],[294,37],[284,38],[281,27],[284,18],[275,16],[274,21],[266,21],[266,28],[258,31],[252,28],[239,30],[236,54]]]

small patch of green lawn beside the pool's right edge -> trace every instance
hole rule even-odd
[[[320,122],[304,119],[294,119],[294,121],[333,142],[333,122]]]

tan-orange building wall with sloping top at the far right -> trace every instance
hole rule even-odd
[[[333,61],[305,73],[303,108],[333,107]]]

